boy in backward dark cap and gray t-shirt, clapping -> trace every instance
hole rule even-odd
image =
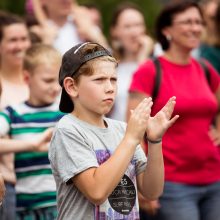
[[[137,188],[148,199],[163,191],[161,141],[171,119],[172,97],[150,117],[152,99],[143,100],[130,120],[105,117],[117,90],[116,60],[96,43],[79,44],[62,60],[60,110],[49,159],[58,190],[58,220],[139,219]],[[139,145],[147,133],[148,162]]]

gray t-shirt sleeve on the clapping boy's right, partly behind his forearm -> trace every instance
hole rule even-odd
[[[134,160],[135,160],[135,170],[136,170],[136,176],[140,173],[142,173],[147,165],[147,158],[146,155],[140,145],[137,146],[135,154],[134,154]]]

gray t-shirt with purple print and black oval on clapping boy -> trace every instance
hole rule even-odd
[[[105,122],[107,128],[99,128],[69,114],[57,124],[49,159],[57,185],[58,220],[139,219],[136,176],[146,167],[140,146],[120,183],[102,205],[88,201],[71,181],[80,172],[108,160],[121,142],[126,124],[108,118]]]

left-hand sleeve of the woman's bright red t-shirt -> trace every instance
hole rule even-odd
[[[129,92],[139,92],[151,96],[155,84],[155,71],[152,60],[142,64],[133,74]]]

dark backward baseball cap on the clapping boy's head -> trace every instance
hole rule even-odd
[[[83,50],[86,45],[94,45],[94,48],[98,48],[95,51]],[[88,52],[88,53],[87,53]],[[62,58],[62,63],[59,71],[59,84],[62,87],[62,93],[60,98],[60,111],[64,113],[70,113],[74,109],[74,103],[70,96],[66,92],[63,81],[66,77],[72,77],[79,70],[79,68],[89,60],[95,59],[101,56],[111,56],[112,54],[106,48],[98,43],[85,42],[77,44],[76,46],[69,49]]]

